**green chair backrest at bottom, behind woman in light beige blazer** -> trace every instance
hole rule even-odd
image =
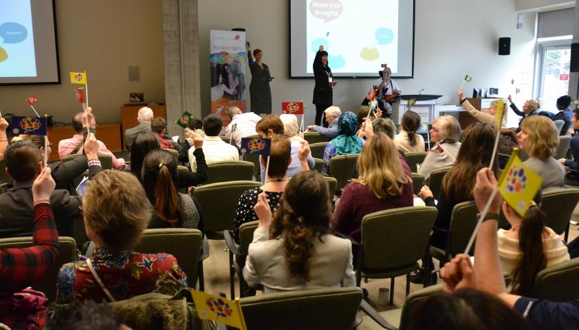
[[[241,298],[248,329],[351,329],[362,301],[359,287],[337,287]]]

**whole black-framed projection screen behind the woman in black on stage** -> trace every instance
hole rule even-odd
[[[313,77],[320,45],[337,77],[414,74],[414,0],[290,0],[290,78]]]

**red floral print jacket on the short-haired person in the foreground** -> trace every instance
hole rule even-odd
[[[96,249],[91,263],[116,300],[149,292],[173,295],[187,287],[187,276],[171,254]],[[58,272],[56,303],[67,304],[74,300],[109,302],[86,261],[67,263]]]

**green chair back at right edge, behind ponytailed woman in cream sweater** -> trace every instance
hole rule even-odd
[[[535,278],[533,297],[560,302],[579,299],[579,285],[573,285],[577,278],[579,258],[545,268]]]

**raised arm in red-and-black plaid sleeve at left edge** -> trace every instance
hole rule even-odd
[[[12,293],[28,287],[54,265],[60,250],[58,232],[50,207],[56,186],[50,168],[43,168],[32,185],[34,198],[34,245],[0,250],[0,292]]]

